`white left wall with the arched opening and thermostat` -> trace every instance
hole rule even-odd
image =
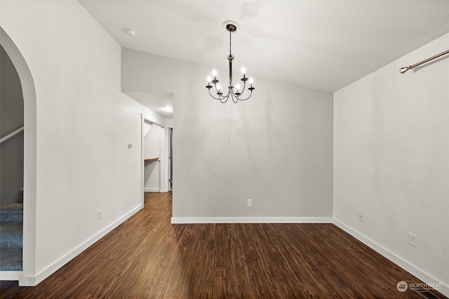
[[[25,231],[20,281],[34,285],[141,208],[141,113],[163,118],[121,94],[121,48],[77,1],[0,5],[36,93],[36,128],[25,113],[36,136],[25,214],[36,220],[24,224],[35,234]]]

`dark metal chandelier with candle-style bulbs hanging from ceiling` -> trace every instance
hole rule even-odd
[[[210,97],[213,97],[214,99],[220,100],[222,103],[226,103],[229,97],[232,99],[232,102],[236,103],[239,101],[246,101],[253,95],[253,78],[247,78],[246,77],[246,70],[244,67],[241,68],[241,72],[243,74],[243,78],[240,80],[243,82],[243,88],[240,87],[240,84],[234,84],[232,83],[232,60],[234,60],[234,56],[232,56],[232,50],[231,50],[231,35],[236,33],[239,29],[239,24],[237,24],[234,21],[226,21],[223,23],[223,27],[225,27],[226,31],[229,32],[229,56],[227,57],[227,60],[229,60],[229,86],[227,87],[227,93],[226,95],[222,92],[222,87],[220,84],[217,84],[219,81],[217,80],[217,71],[215,69],[212,71],[213,79],[208,77],[208,85],[206,85],[206,88],[209,91]],[[250,91],[249,95],[248,92],[246,92],[245,96],[243,96],[243,93],[245,92],[246,84],[249,84],[249,87],[247,90]],[[213,84],[213,85],[212,85]],[[216,92],[217,97],[213,96],[213,94],[210,92],[210,90],[214,88],[213,92]],[[241,88],[241,89],[240,89]]]

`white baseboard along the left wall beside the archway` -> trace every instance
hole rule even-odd
[[[97,235],[91,237],[91,239],[88,239],[83,244],[76,247],[76,249],[70,251],[67,253],[66,256],[62,257],[60,260],[58,260],[56,263],[53,263],[50,267],[47,267],[45,270],[39,272],[38,274],[32,276],[32,275],[22,275],[19,277],[19,286],[36,286],[39,284],[43,279],[46,279],[51,274],[56,272],[56,270],[60,269],[63,265],[69,263],[70,260],[75,258],[79,255],[79,253],[83,252],[84,250],[88,249],[89,246],[93,245],[95,242],[97,242],[99,239],[107,235],[107,233],[111,232],[119,226],[121,223],[126,221],[126,219],[130,218],[130,216],[133,216],[135,213],[137,213],[140,209],[142,209],[142,205],[139,205],[138,207],[135,207],[131,211],[129,211],[127,214],[122,216],[121,218],[117,219],[111,225],[107,226],[104,230],[98,232]]]

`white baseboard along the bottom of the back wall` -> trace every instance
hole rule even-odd
[[[172,224],[187,223],[333,223],[328,217],[212,217],[212,218],[171,218]]]

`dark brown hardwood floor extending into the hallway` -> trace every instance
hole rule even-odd
[[[35,287],[1,298],[426,298],[421,282],[333,224],[170,224],[171,193]],[[443,295],[434,295],[444,298]]]

